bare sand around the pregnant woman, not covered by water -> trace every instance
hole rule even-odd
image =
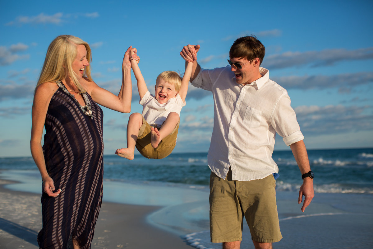
[[[36,249],[41,229],[40,195],[9,190],[0,179],[0,248]],[[95,227],[92,249],[180,248],[192,249],[181,236],[147,222],[159,206],[140,206],[104,201]]]

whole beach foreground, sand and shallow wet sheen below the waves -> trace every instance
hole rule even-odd
[[[0,178],[0,248],[38,248],[40,194],[29,191],[40,188],[40,180],[12,171]],[[104,182],[92,248],[220,249],[210,243],[208,192],[195,188]],[[274,248],[373,248],[372,194],[316,193],[304,213],[297,196],[277,192],[283,239]],[[246,224],[242,237],[242,249],[254,248]]]

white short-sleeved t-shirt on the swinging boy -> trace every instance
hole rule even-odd
[[[142,109],[142,116],[145,118],[146,122],[148,122],[149,125],[157,126],[163,124],[170,112],[176,112],[180,115],[181,108],[186,105],[185,101],[182,101],[179,93],[166,103],[161,104],[149,91],[145,93],[139,103],[144,107]]]

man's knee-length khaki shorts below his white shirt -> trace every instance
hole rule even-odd
[[[232,181],[230,168],[225,180],[211,172],[211,242],[242,240],[243,216],[252,240],[261,243],[280,241],[275,187],[272,174],[260,180]]]

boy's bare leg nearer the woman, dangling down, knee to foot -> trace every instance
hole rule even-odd
[[[127,148],[117,149],[115,154],[129,160],[133,160],[135,155],[135,145],[137,136],[142,125],[141,113],[132,113],[128,119],[127,125]]]

